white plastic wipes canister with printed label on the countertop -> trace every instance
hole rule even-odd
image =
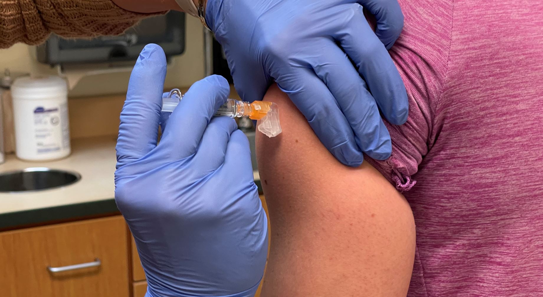
[[[15,153],[29,161],[70,155],[68,89],[60,77],[22,77],[11,86]]]

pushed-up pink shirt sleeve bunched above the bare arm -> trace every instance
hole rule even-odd
[[[409,117],[403,125],[388,123],[392,156],[365,160],[377,168],[401,192],[416,180],[422,158],[439,133],[435,110],[443,91],[452,39],[452,1],[400,1],[405,15],[402,34],[390,50],[409,98]]]

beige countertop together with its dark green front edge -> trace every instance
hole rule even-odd
[[[72,140],[72,154],[47,162],[22,161],[6,156],[0,173],[30,167],[77,172],[74,184],[36,192],[0,193],[0,230],[45,224],[117,212],[115,205],[116,137],[100,136]],[[253,173],[259,189],[260,176]]]

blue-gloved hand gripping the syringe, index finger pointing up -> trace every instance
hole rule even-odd
[[[167,119],[166,57],[140,54],[121,112],[115,200],[136,241],[147,296],[253,296],[266,264],[267,218],[253,181],[249,141],[214,117],[230,92],[223,77],[195,83]]]

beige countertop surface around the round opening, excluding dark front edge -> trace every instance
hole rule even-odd
[[[0,172],[29,167],[74,171],[81,179],[72,185],[37,192],[0,193],[0,214],[112,199],[115,191],[116,137],[72,140],[72,154],[65,159],[28,162],[6,156]]]

